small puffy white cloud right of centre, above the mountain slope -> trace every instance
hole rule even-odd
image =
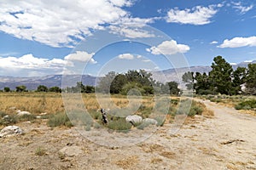
[[[177,44],[176,41],[165,41],[161,42],[158,46],[151,48],[146,48],[148,52],[152,54],[177,54],[177,53],[186,53],[189,51],[189,46],[185,44]]]

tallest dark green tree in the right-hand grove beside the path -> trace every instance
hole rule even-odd
[[[232,66],[221,56],[215,57],[213,61],[212,71],[209,73],[209,82],[212,90],[219,94],[232,94],[234,90],[231,78]]]

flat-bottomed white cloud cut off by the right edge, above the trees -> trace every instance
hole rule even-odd
[[[255,47],[256,37],[234,37],[232,39],[225,39],[218,48],[241,48],[241,47]]]

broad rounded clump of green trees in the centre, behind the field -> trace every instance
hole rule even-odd
[[[130,70],[125,74],[108,72],[98,82],[97,90],[105,94],[127,94],[131,89],[136,88],[141,94],[172,94],[177,95],[181,91],[177,88],[177,82],[166,82],[165,84],[156,82],[152,74],[140,70]]]

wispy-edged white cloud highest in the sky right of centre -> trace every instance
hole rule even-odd
[[[211,22],[210,19],[218,12],[217,7],[221,6],[196,6],[195,8],[185,8],[183,10],[172,8],[167,13],[166,21],[180,24],[206,25]]]

